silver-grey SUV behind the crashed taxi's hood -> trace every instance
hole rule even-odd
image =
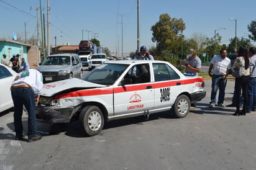
[[[47,56],[37,70],[43,75],[43,83],[83,77],[83,65],[76,54]]]

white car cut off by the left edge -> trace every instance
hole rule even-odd
[[[0,64],[0,112],[13,107],[10,88],[16,75],[17,73],[11,68]]]

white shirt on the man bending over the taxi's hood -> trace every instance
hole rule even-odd
[[[43,91],[43,76],[36,69],[27,69],[17,74],[16,78],[12,82],[12,86],[18,86],[21,84],[29,85],[35,94],[42,94]]]

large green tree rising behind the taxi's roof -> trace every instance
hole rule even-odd
[[[151,27],[152,41],[157,42],[157,55],[163,50],[178,54],[183,39],[182,32],[186,26],[182,19],[171,18],[169,14],[161,14],[159,21]]]

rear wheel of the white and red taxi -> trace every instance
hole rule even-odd
[[[190,99],[186,95],[178,96],[175,104],[171,107],[171,112],[175,117],[183,118],[190,112]]]

